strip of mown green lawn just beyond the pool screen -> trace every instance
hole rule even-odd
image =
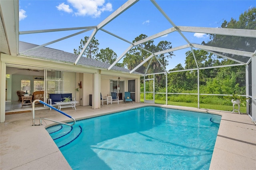
[[[144,99],[140,99],[140,102],[144,102]],[[155,100],[155,103],[157,104],[166,104],[166,101],[161,100]],[[174,101],[168,101],[168,105],[174,105],[174,106],[185,106],[185,107],[195,107],[197,108],[197,103],[186,103],[186,102],[174,102]],[[233,111],[233,106],[228,105],[210,105],[210,104],[200,104],[199,105],[201,109],[214,109],[214,110],[220,110],[220,111]],[[236,105],[235,109],[238,109],[238,106]],[[237,113],[237,111],[235,111]],[[240,112],[246,113],[246,107],[240,106]]]

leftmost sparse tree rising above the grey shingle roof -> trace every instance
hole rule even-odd
[[[74,54],[79,55],[81,53],[81,51],[82,51],[84,45],[86,44],[86,42],[88,41],[88,39],[89,39],[88,36],[85,36],[84,40],[81,39],[80,46],[78,47],[78,49],[74,49]],[[96,59],[98,50],[99,50],[98,46],[99,46],[99,42],[94,37],[92,39],[92,41],[89,43],[86,50],[84,51],[84,55],[90,59]]]

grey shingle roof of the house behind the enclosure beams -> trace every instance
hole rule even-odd
[[[19,51],[20,52],[26,51],[27,49],[31,49],[36,46],[39,46],[39,45],[27,43],[27,42],[20,42]],[[65,51],[61,51],[61,50],[53,49],[49,47],[40,47],[37,49],[33,49],[31,51],[22,53],[21,55],[40,58],[40,59],[46,59],[51,61],[60,61],[64,63],[74,63],[78,57],[78,55],[76,54],[68,53]],[[101,61],[97,61],[87,57],[81,57],[81,59],[78,62],[78,65],[82,65],[85,67],[95,67],[98,69],[108,69],[108,67],[110,67],[110,64],[108,63],[103,63]],[[117,67],[117,66],[112,67],[112,70],[122,71],[127,73],[130,72],[130,70],[128,69]],[[140,74],[140,73],[136,72],[135,74]]]

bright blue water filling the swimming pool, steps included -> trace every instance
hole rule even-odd
[[[46,130],[72,169],[209,169],[220,119],[142,107]]]

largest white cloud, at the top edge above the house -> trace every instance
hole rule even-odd
[[[104,5],[105,0],[68,0],[73,8],[76,9],[76,16],[99,17],[104,11],[112,11],[112,4]]]

